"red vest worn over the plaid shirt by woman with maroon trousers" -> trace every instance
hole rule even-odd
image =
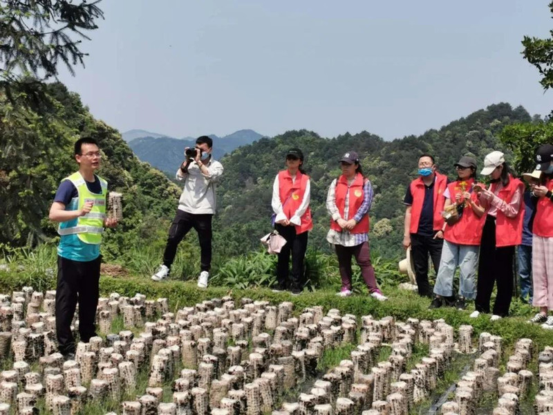
[[[348,186],[348,179],[344,174],[341,174],[339,176],[338,180],[336,181],[336,189],[335,189],[335,203],[336,207],[338,208],[338,212],[340,212],[340,216],[344,217],[344,210],[346,208],[346,195],[349,194],[349,218],[353,219],[353,216],[357,213],[357,210],[361,207],[363,203],[363,199],[365,196],[365,192],[363,190],[363,185],[365,184],[364,177],[362,174],[357,173],[355,175],[355,179],[353,180],[353,183],[351,183],[350,186]],[[361,221],[357,223],[353,227],[352,230],[350,230],[350,233],[368,233],[369,228],[369,219],[368,219],[368,213],[363,216]],[[333,221],[330,219],[330,229],[335,230],[337,232],[343,231],[342,228],[340,228],[340,225],[336,221]]]

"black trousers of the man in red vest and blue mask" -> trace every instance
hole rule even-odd
[[[428,256],[430,255],[434,270],[438,274],[443,245],[443,239],[411,234],[411,255],[413,255],[415,277],[421,296],[432,297],[433,295],[432,287],[428,282]]]

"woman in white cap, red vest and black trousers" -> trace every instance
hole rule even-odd
[[[513,295],[514,247],[520,245],[523,235],[524,184],[509,174],[505,156],[492,151],[484,159],[483,176],[491,176],[489,189],[478,190],[480,203],[487,211],[478,264],[476,311],[489,313],[489,300],[497,282],[496,302],[490,320],[499,320],[509,314]]]

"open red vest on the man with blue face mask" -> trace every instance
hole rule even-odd
[[[442,211],[444,210],[444,191],[446,186],[447,176],[435,172],[433,230],[440,230],[444,225]],[[411,205],[411,226],[409,232],[417,233],[419,229],[420,213],[422,212],[422,202],[424,201],[424,182],[422,178],[415,178],[415,180],[411,182],[411,194],[413,195],[413,204]]]

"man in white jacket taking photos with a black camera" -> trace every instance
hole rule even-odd
[[[182,238],[194,228],[200,243],[200,276],[198,287],[206,288],[212,261],[212,218],[215,214],[215,183],[223,174],[223,165],[212,158],[213,140],[201,136],[196,148],[185,149],[185,161],[177,170],[176,178],[184,181],[178,209],[169,228],[169,237],[163,253],[163,263],[154,275],[153,281],[169,277],[171,264],[176,256],[177,246]]]

